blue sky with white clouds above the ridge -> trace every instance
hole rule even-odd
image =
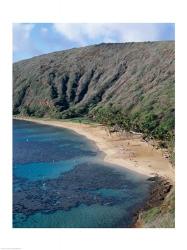
[[[13,61],[99,43],[175,40],[172,23],[16,23]]]

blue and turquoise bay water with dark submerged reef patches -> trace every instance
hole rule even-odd
[[[14,227],[128,227],[148,191],[71,130],[14,120]]]

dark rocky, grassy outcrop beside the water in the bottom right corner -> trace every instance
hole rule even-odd
[[[150,195],[144,206],[136,212],[132,227],[175,227],[175,190],[169,180],[155,176]]]

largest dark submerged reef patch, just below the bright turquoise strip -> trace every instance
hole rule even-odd
[[[56,179],[27,182],[22,191],[14,192],[14,213],[67,211],[79,204],[112,206],[122,202],[120,197],[105,197],[93,191],[123,189],[124,183],[129,189],[131,185],[135,186],[115,170],[108,171],[107,167],[101,168],[97,164],[80,164]]]

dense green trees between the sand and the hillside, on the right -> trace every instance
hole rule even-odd
[[[170,141],[174,138],[174,114],[163,119],[153,111],[127,114],[121,108],[109,105],[92,109],[89,117],[110,128],[134,130],[143,133],[146,137],[163,141]]]

